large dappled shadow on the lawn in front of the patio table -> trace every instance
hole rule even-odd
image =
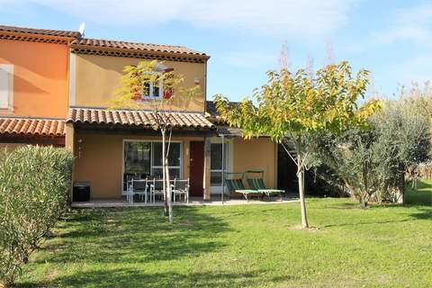
[[[175,209],[169,224],[160,208],[73,211],[59,224],[35,263],[148,263],[192,257],[224,246],[221,219],[195,207]]]

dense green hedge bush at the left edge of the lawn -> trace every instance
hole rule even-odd
[[[67,208],[73,157],[64,148],[26,146],[0,156],[0,285],[21,274]]]

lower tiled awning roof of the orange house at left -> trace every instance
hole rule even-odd
[[[0,118],[0,134],[65,136],[65,121],[31,118]]]

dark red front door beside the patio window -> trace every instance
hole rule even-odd
[[[203,196],[202,181],[204,176],[204,142],[191,141],[190,178],[191,196]]]

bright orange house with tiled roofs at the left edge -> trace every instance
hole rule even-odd
[[[0,25],[0,147],[64,146],[68,43],[79,36]]]

